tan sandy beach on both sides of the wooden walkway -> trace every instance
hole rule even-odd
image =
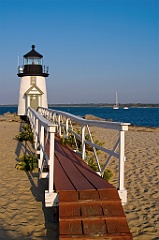
[[[24,151],[15,139],[21,122],[17,118],[0,119],[0,239],[56,239],[58,224],[52,208],[44,207],[46,180],[38,173],[17,170],[17,158]],[[93,135],[110,149],[118,132],[93,129]],[[159,129],[130,127],[125,139],[125,188],[128,203],[124,206],[134,240],[159,239]],[[104,155],[99,155],[104,161]],[[117,161],[109,168],[117,185]],[[54,237],[51,237],[54,236]]]

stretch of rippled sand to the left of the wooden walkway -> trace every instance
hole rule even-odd
[[[14,139],[20,126],[17,118],[0,118],[0,240],[58,239],[53,208],[44,206],[47,181],[15,168],[24,151]]]

